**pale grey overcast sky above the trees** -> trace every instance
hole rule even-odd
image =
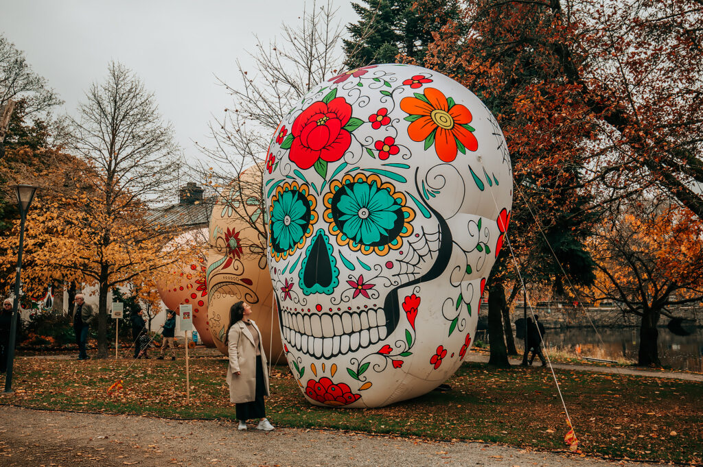
[[[318,4],[323,3],[318,1]],[[308,1],[311,5],[311,1]],[[356,21],[349,0],[337,18]],[[268,43],[283,22],[298,25],[304,0],[0,0],[0,32],[25,52],[73,114],[84,91],[117,60],[155,93],[186,158],[200,157],[207,123],[231,99],[215,76],[238,82],[236,60],[250,63],[254,34]]]

